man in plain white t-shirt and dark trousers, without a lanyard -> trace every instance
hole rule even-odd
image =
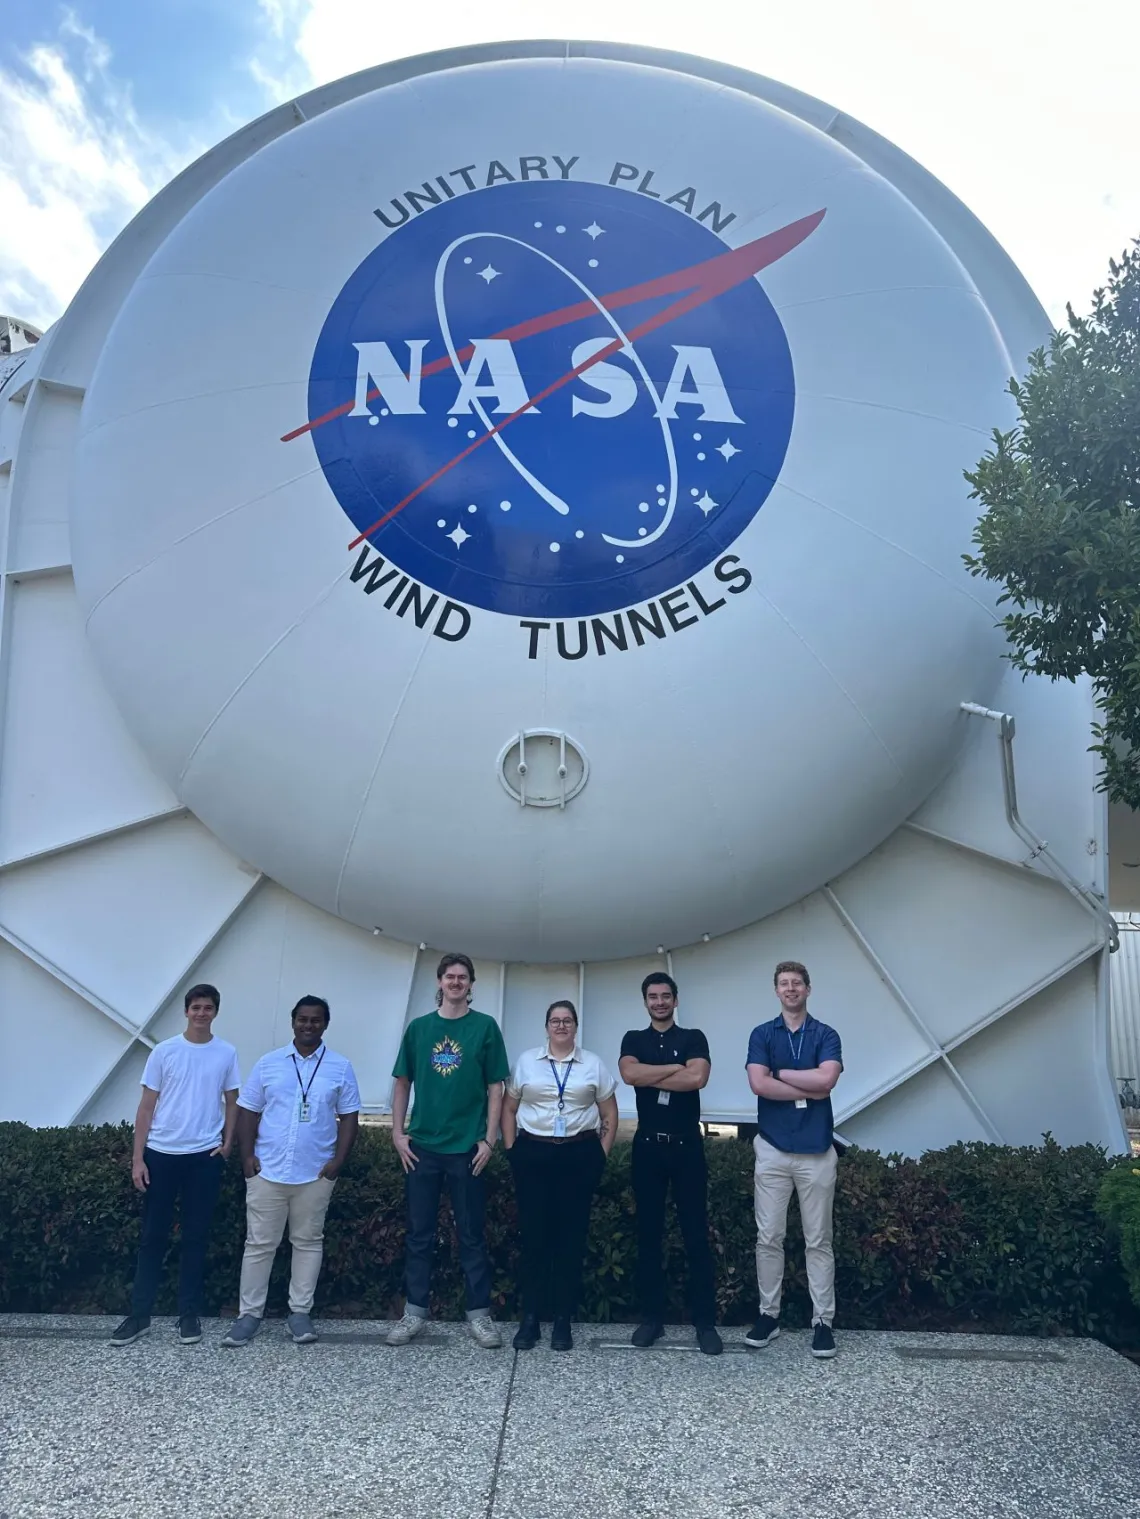
[[[213,1033],[220,1006],[216,986],[192,986],[184,998],[185,1031],[155,1045],[143,1069],[131,1161],[131,1180],[143,1194],[143,1236],[131,1312],[111,1335],[111,1344],[131,1344],[150,1329],[179,1198],[178,1338],[182,1344],[198,1344],[202,1338],[205,1249],[222,1167],[234,1142],[242,1085],[237,1050]]]

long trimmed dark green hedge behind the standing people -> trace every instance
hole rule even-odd
[[[725,1323],[755,1312],[752,1153],[708,1142],[710,1217]],[[0,1309],[119,1312],[138,1241],[129,1179],[131,1130],[0,1124]],[[851,1329],[979,1328],[1085,1334],[1140,1344],[1113,1226],[1097,1194],[1117,1168],[1094,1145],[1040,1148],[959,1144],[920,1161],[851,1150],[839,1167],[836,1293]],[[1134,1177],[1129,1176],[1129,1182]],[[365,1129],[328,1215],[318,1312],[386,1317],[400,1306],[403,1176],[388,1132]],[[207,1311],[231,1312],[245,1232],[239,1168],[230,1165],[207,1267]],[[489,1168],[488,1244],[496,1311],[517,1309],[517,1221],[502,1151]],[[684,1256],[669,1235],[670,1315],[682,1318]],[[789,1220],[786,1322],[809,1322],[803,1236]],[[271,1311],[284,1311],[286,1256]],[[458,1315],[462,1274],[444,1217],[433,1309]],[[160,1311],[173,1311],[169,1274]],[[629,1147],[619,1144],[594,1205],[582,1317],[637,1317]]]

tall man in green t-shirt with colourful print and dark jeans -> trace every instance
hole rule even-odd
[[[392,1075],[392,1144],[404,1168],[404,1317],[389,1344],[407,1344],[427,1322],[432,1252],[444,1180],[451,1195],[459,1261],[467,1282],[467,1323],[486,1350],[503,1340],[491,1320],[491,1259],[483,1240],[483,1170],[499,1138],[503,1082],[511,1074],[499,1024],[471,1007],[474,966],[445,954],[436,969],[438,1010],[404,1030]],[[415,1086],[412,1120],[407,1100]]]

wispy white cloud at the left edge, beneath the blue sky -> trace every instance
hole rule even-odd
[[[0,68],[0,311],[53,322],[103,248],[201,149],[138,120],[73,15]]]

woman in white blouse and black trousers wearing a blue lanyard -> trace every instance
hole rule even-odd
[[[570,1320],[582,1287],[590,1208],[617,1133],[616,1089],[597,1056],[578,1044],[575,1004],[552,1003],[546,1044],[515,1062],[502,1113],[521,1235],[523,1320],[515,1350],[535,1347],[547,1306],[550,1349],[573,1349]]]

